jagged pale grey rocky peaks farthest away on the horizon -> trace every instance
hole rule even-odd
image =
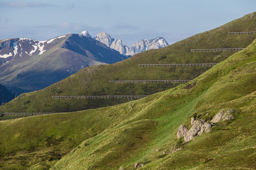
[[[113,39],[106,32],[98,33],[95,39],[126,56],[133,56],[135,54],[145,52],[150,49],[159,49],[169,45],[168,42],[163,37],[157,37],[152,40],[138,41],[135,44],[128,47],[122,44],[122,40]]]

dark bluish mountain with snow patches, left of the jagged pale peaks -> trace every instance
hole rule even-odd
[[[46,41],[0,40],[0,83],[35,91],[84,67],[115,63],[126,58],[87,32]]]

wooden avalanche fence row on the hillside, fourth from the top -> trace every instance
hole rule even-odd
[[[116,80],[116,81],[109,81],[110,83],[187,83],[191,80]]]

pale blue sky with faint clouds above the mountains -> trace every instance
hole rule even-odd
[[[0,40],[48,40],[106,32],[124,45],[164,37],[169,44],[256,11],[255,0],[0,0]]]

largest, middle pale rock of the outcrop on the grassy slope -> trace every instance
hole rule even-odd
[[[209,132],[213,124],[205,122],[205,120],[197,120],[195,124],[188,130],[184,136],[184,141],[188,142],[195,138],[197,135],[201,135],[204,131]]]

